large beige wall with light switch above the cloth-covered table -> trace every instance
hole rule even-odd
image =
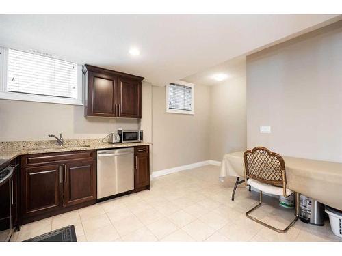
[[[341,49],[339,22],[248,56],[248,147],[342,162]]]

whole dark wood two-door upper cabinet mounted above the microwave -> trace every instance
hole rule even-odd
[[[86,117],[142,117],[143,77],[90,65],[83,74]]]

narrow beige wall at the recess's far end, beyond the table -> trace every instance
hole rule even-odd
[[[211,160],[246,149],[246,77],[211,87],[209,130]]]

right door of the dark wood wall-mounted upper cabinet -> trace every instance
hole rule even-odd
[[[118,78],[118,117],[142,117],[142,84]]]

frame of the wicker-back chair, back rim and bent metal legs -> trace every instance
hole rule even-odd
[[[280,167],[281,167],[281,179],[279,180],[266,180],[264,181],[261,177],[257,177],[257,176],[254,176],[254,175],[248,175],[248,161],[247,161],[247,154],[248,153],[254,153],[256,152],[257,150],[264,150],[265,152],[267,152],[268,156],[274,156],[276,157],[279,162],[280,162]],[[289,197],[291,195],[293,195],[293,193],[291,193],[291,195],[287,195],[286,194],[286,175],[285,175],[285,162],[284,160],[282,159],[282,157],[274,152],[271,152],[269,151],[267,148],[265,147],[254,147],[253,150],[247,150],[245,153],[244,153],[244,169],[245,169],[245,182],[246,182],[246,186],[247,186],[247,180],[249,177],[251,178],[257,178],[257,180],[259,180],[260,182],[265,182],[267,184],[274,184],[275,186],[280,186],[280,184],[282,184],[282,192],[283,192],[283,195],[284,197]],[[285,227],[285,229],[277,229],[276,227],[273,227],[267,223],[264,223],[263,221],[260,221],[258,218],[255,218],[253,216],[250,216],[250,213],[253,212],[254,210],[256,210],[257,208],[259,208],[261,206],[261,204],[263,203],[263,192],[260,191],[259,192],[259,203],[257,205],[255,205],[252,209],[248,210],[248,212],[246,212],[246,216],[248,218],[250,218],[252,221],[255,221],[265,227],[268,227],[269,229],[272,229],[273,231],[276,231],[278,233],[286,233],[290,227],[292,227],[295,222],[298,220],[299,218],[299,204],[300,204],[300,201],[299,201],[299,194],[298,193],[295,193],[295,218],[293,219],[293,221],[291,221],[291,223],[289,223],[289,225],[287,227]]]

